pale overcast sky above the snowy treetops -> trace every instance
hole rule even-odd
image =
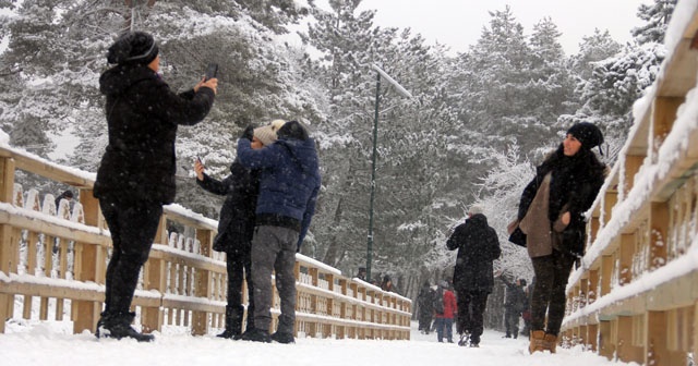
[[[377,10],[377,25],[410,27],[430,42],[466,51],[490,25],[489,11],[503,11],[508,4],[527,36],[533,24],[550,16],[563,33],[565,52],[573,54],[594,28],[609,29],[622,44],[630,40],[630,29],[642,24],[636,15],[642,3],[652,0],[363,0],[359,10]]]

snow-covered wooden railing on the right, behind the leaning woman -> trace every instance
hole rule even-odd
[[[698,350],[696,8],[676,8],[670,57],[594,203],[567,286],[563,344],[610,359],[693,365]]]

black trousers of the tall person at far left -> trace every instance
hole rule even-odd
[[[163,216],[160,203],[99,198],[113,251],[107,266],[105,314],[125,315],[131,307],[141,267],[148,259]]]

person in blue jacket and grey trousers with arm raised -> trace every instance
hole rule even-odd
[[[275,121],[276,122],[276,121]],[[273,123],[274,124],[274,123]],[[296,253],[308,233],[321,186],[315,142],[298,121],[284,123],[278,139],[262,149],[252,149],[253,129],[238,141],[238,160],[249,169],[260,169],[260,196],[252,239],[252,283],[254,285],[254,330],[243,340],[292,343],[296,322]],[[281,298],[278,327],[272,324],[272,271]]]

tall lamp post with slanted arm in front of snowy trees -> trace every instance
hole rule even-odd
[[[412,98],[412,95],[407,91],[398,82],[396,82],[390,75],[383,71],[378,65],[372,64],[371,69],[376,72],[375,84],[375,112],[373,115],[373,155],[371,157],[371,204],[369,206],[369,237],[366,243],[366,281],[371,281],[371,263],[373,261],[373,202],[375,199],[375,157],[377,152],[377,139],[378,139],[378,102],[381,97],[381,77],[385,78],[395,89],[406,98]]]

